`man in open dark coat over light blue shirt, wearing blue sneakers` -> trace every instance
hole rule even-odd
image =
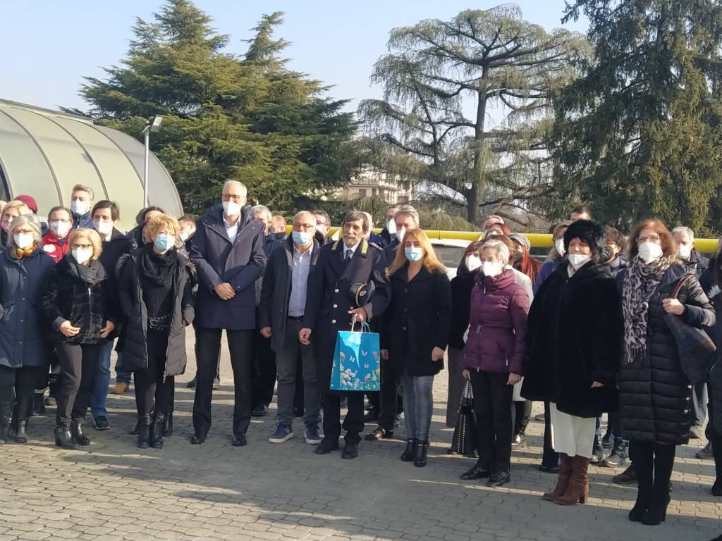
[[[261,335],[271,340],[278,369],[278,419],[276,429],[269,437],[274,444],[293,437],[293,404],[299,359],[305,399],[304,438],[308,444],[321,443],[318,435],[321,395],[316,377],[316,357],[311,344],[304,345],[298,340],[309,277],[321,252],[314,232],[316,219],[313,214],[306,211],[296,214],[292,233],[274,248],[264,274],[259,325]]]

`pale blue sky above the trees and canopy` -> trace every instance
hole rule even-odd
[[[488,9],[474,0],[196,0],[213,26],[230,35],[228,52],[243,53],[242,40],[264,13],[285,12],[278,36],[291,42],[290,67],[335,85],[331,95],[379,97],[369,75],[386,52],[393,27],[421,19],[448,19],[464,9]],[[560,27],[564,0],[519,0],[523,17],[551,30]],[[78,96],[83,76],[103,77],[102,66],[125,56],[135,17],[151,19],[161,0],[0,0],[0,98],[41,107],[87,105]],[[583,22],[567,25],[583,32]]]

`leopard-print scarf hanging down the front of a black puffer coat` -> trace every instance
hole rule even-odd
[[[634,364],[647,352],[649,299],[674,263],[676,255],[644,263],[639,256],[630,262],[622,288],[622,314],[625,318],[625,356],[622,364]]]

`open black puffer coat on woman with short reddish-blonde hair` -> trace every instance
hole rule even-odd
[[[127,316],[118,351],[123,352],[123,369],[135,372],[148,368],[148,312],[143,300],[141,259],[147,247],[139,247],[118,261],[118,296]],[[186,369],[186,327],[193,322],[193,277],[195,270],[188,258],[176,251],[173,271],[173,315],[170,317],[168,348],[165,354],[166,376],[183,374]]]

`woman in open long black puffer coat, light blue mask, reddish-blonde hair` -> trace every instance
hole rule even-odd
[[[155,216],[146,226],[152,243],[118,262],[121,307],[128,315],[123,366],[134,372],[141,449],[163,447],[163,423],[175,376],[186,369],[193,281],[191,263],[177,249],[180,230],[170,214]]]

